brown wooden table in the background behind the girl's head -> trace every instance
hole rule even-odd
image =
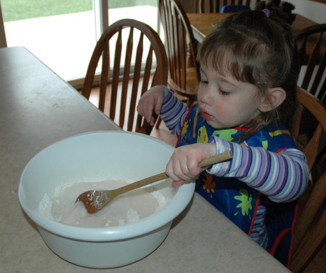
[[[195,39],[201,43],[214,29],[213,23],[221,21],[231,14],[232,13],[187,13],[187,17],[191,23]],[[294,33],[298,34],[303,29],[314,24],[316,24],[316,22],[300,14],[296,14],[295,20],[291,26]]]

